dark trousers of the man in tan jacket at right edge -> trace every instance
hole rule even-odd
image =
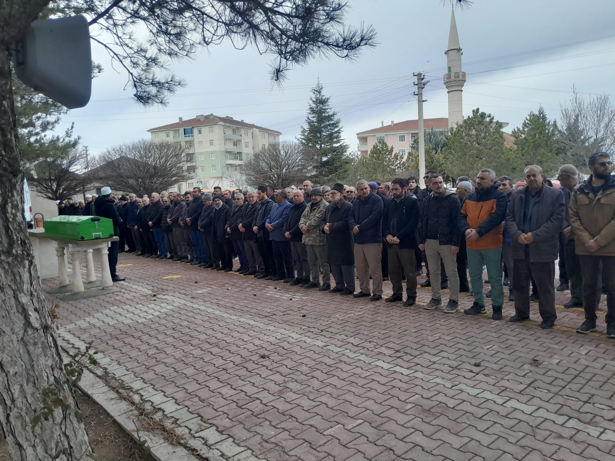
[[[595,322],[598,296],[602,287],[598,285],[598,272],[602,262],[602,283],[606,288],[606,325],[615,325],[615,256],[592,256],[579,254],[583,277],[583,307],[585,320]]]

